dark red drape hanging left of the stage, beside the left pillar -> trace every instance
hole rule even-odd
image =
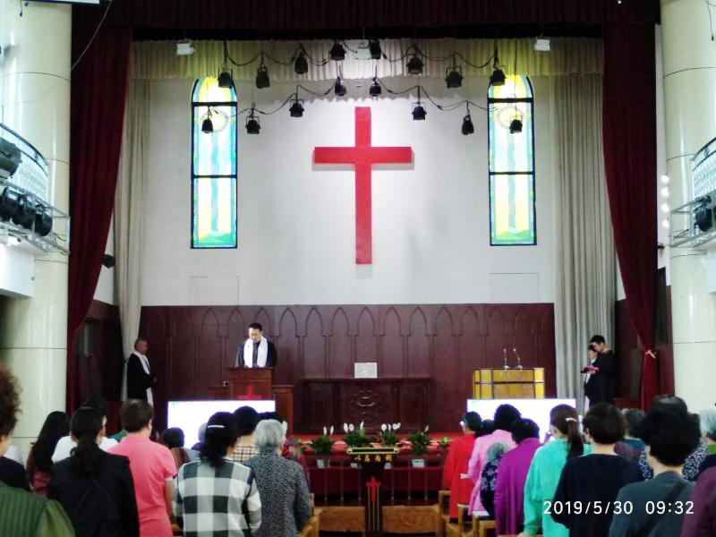
[[[115,207],[131,30],[99,30],[72,71],[67,408],[72,411],[76,371],[72,340],[92,303]]]

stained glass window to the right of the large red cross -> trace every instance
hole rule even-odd
[[[490,245],[537,243],[534,221],[534,97],[526,76],[488,92]],[[510,132],[515,120],[522,132]],[[514,130],[514,129],[513,129]]]

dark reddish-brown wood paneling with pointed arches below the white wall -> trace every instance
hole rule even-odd
[[[547,396],[556,393],[552,304],[147,306],[141,333],[152,368],[163,371],[155,392],[158,426],[167,400],[206,397],[209,386],[221,383],[254,320],[277,345],[276,382],[294,385],[299,432],[342,425],[337,408],[310,403],[327,394],[306,392],[303,379],[352,377],[355,362],[378,362],[380,378],[430,378],[428,401],[396,404],[427,405],[432,430],[457,430],[473,370],[501,367],[503,348],[510,364],[515,347],[525,367],[545,368]],[[332,400],[340,405],[335,394]]]

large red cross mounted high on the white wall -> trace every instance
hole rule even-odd
[[[316,148],[316,164],[351,164],[355,168],[355,262],[370,265],[372,254],[371,170],[374,164],[410,164],[410,147],[376,148],[371,145],[371,108],[355,107],[355,146]]]

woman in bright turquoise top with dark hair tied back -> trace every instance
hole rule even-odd
[[[579,416],[569,405],[557,405],[550,411],[550,436],[554,440],[535,451],[524,482],[524,531],[519,537],[538,533],[545,537],[567,537],[569,533],[567,527],[547,514],[545,502],[554,498],[567,461],[592,453],[592,447],[584,445]]]

